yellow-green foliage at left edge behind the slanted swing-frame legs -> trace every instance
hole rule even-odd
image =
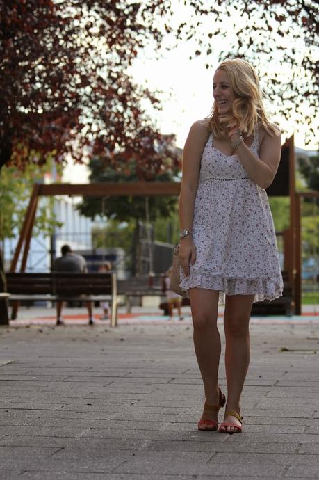
[[[21,230],[33,184],[42,182],[50,164],[26,166],[24,171],[3,166],[0,172],[0,239],[13,238]],[[33,232],[50,234],[60,223],[54,218],[53,198],[40,198]]]

